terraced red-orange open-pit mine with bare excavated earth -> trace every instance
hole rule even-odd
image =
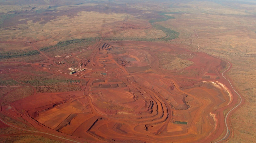
[[[90,62],[83,63],[86,70],[73,75],[31,65],[86,79],[81,91],[34,91],[1,111],[81,142],[210,142],[224,131],[223,111],[237,100],[220,74],[224,61],[178,44],[100,41],[94,46]],[[161,52],[194,64],[179,71],[159,68],[155,53]]]

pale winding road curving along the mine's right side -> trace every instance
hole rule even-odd
[[[196,30],[194,31],[194,33],[197,35]],[[192,42],[193,42],[194,40],[197,40],[198,38],[199,38],[199,36],[197,35],[197,38],[191,40],[190,43],[191,43],[192,45],[196,45],[196,44],[194,44],[194,43],[192,43]],[[197,50],[199,50],[200,46],[198,46],[198,45],[196,45],[196,46],[198,47]],[[199,51],[200,51],[200,52],[203,52],[203,51],[201,51],[201,50],[199,50]],[[205,52],[204,52],[204,53],[205,53]],[[208,54],[208,53],[206,53],[206,54]],[[214,56],[214,55],[212,55],[212,56]],[[219,58],[219,57],[217,57],[217,56],[214,56],[214,57]],[[225,62],[227,62],[227,63],[229,64],[229,67],[228,67],[225,71],[222,72],[222,77],[225,78],[225,77],[224,77],[224,73],[229,70],[229,68],[231,67],[231,64],[230,64],[227,60],[225,60],[225,59],[222,59],[222,58],[219,58],[219,59],[221,59],[221,60],[223,60],[223,61],[225,61]],[[231,84],[231,82],[230,82],[227,78],[225,78],[225,79],[229,82],[229,84],[230,84],[231,88],[233,89],[233,91],[236,92],[236,90],[233,88],[233,85]],[[240,102],[239,102],[239,104],[236,105],[234,108],[232,108],[231,110],[229,110],[229,112],[228,112],[228,113],[226,114],[226,116],[225,116],[226,134],[225,134],[225,136],[224,136],[223,138],[221,138],[221,139],[218,140],[218,141],[215,141],[214,143],[220,142],[220,141],[222,141],[222,140],[226,140],[226,139],[229,137],[229,135],[230,135],[230,130],[229,130],[230,127],[228,127],[228,125],[227,125],[227,118],[228,118],[228,115],[229,115],[229,113],[230,113],[231,111],[233,111],[235,108],[237,108],[237,107],[242,103],[242,97],[241,97],[237,92],[236,92],[236,94],[237,94],[238,97],[240,98]]]

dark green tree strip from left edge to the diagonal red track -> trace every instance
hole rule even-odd
[[[18,57],[25,57],[25,56],[32,56],[32,55],[38,55],[40,52],[37,50],[32,51],[8,51],[8,52],[2,52],[0,53],[0,59],[4,58],[18,58]]]

